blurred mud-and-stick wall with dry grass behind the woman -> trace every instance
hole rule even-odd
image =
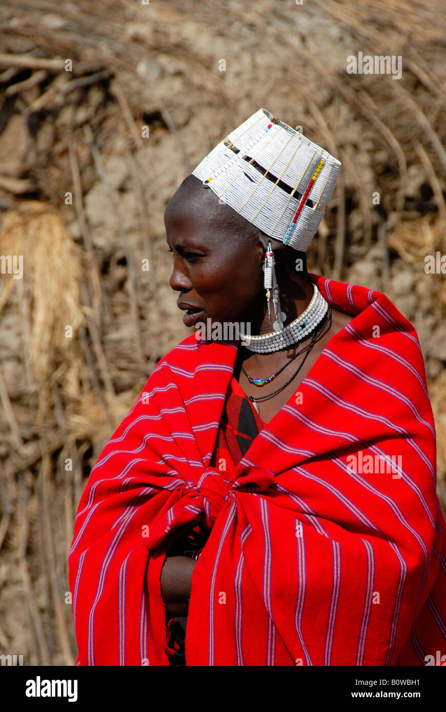
[[[309,268],[385,292],[415,325],[446,506],[445,276],[424,269],[446,253],[445,28],[441,0],[3,1],[0,254],[23,254],[24,276],[0,276],[1,654],[73,664],[79,498],[188,333],[165,205],[260,107],[343,162]],[[400,55],[403,77],[348,75],[358,51]]]

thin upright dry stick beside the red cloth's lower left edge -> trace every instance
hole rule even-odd
[[[51,531],[51,511],[49,503],[51,502],[51,463],[48,452],[43,453],[41,469],[38,474],[40,481],[40,504],[43,522],[43,539],[45,540],[45,562],[46,570],[51,587],[51,595],[53,598],[53,608],[56,612],[56,622],[58,627],[58,637],[61,643],[63,658],[65,664],[73,666],[73,656],[71,654],[71,644],[68,636],[68,627],[66,621],[66,612],[63,608],[65,603],[62,603],[61,590],[58,585],[56,554],[53,545],[53,533]]]

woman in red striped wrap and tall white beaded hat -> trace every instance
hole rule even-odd
[[[306,272],[339,168],[260,110],[167,206],[170,286],[199,332],[157,365],[83,493],[78,664],[424,665],[446,652],[415,330],[384,295]],[[229,324],[236,337],[214,337]]]

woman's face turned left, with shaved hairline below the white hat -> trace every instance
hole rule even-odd
[[[170,286],[180,293],[177,303],[187,326],[207,318],[222,324],[249,321],[252,328],[261,323],[264,246],[250,227],[198,180],[180,187],[167,204]]]

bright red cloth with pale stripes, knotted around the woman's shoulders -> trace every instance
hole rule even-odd
[[[69,559],[77,664],[169,664],[160,571],[199,521],[210,534],[188,666],[417,666],[446,653],[446,523],[417,335],[385,295],[311,278],[354,318],[237,466],[210,464],[237,348],[195,335],[105,446]]]

